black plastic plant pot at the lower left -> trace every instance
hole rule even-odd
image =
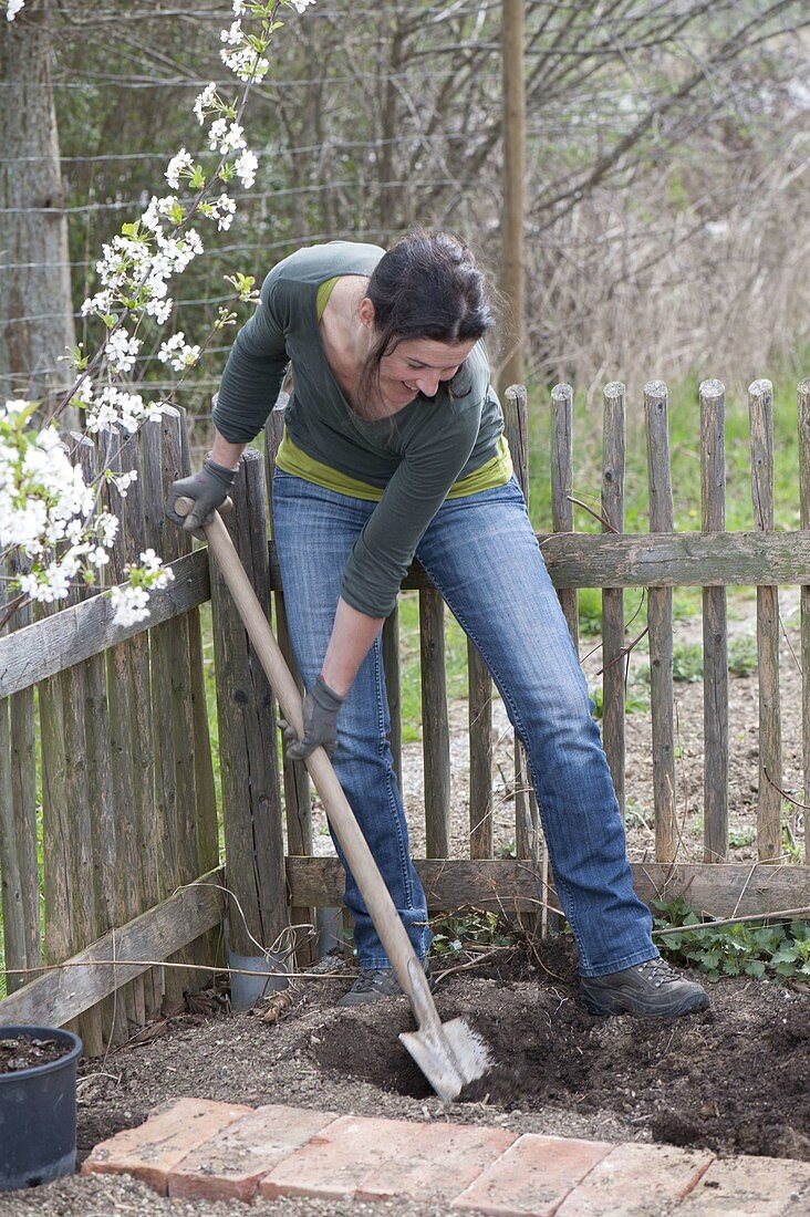
[[[0,1191],[34,1188],[76,1170],[76,1066],[82,1041],[55,1027],[4,1027],[0,1039],[54,1039],[65,1055],[0,1073]]]

